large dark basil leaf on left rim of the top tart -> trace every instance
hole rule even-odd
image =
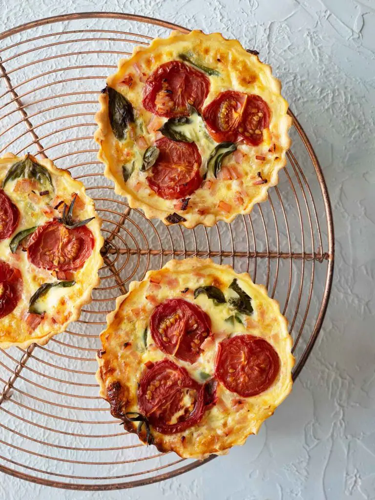
[[[131,102],[112,87],[106,87],[108,94],[109,123],[113,134],[118,140],[126,137],[126,131],[130,122],[134,121],[134,111]]]

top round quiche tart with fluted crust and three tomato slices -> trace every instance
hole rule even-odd
[[[256,51],[178,31],[107,78],[95,139],[130,207],[165,224],[230,222],[266,199],[290,145],[280,82]]]

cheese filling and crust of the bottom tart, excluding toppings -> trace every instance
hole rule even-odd
[[[195,288],[212,283],[220,287],[226,299],[237,296],[228,288],[234,277],[252,299],[253,314],[242,315],[245,325],[225,321],[233,314],[228,301],[215,305],[204,293],[196,299],[193,296]],[[152,282],[159,279],[159,285]],[[187,292],[181,293],[186,287]],[[211,319],[214,336],[212,339],[208,337],[209,340],[202,344],[203,351],[194,363],[161,352],[149,332],[149,317],[155,305],[173,297],[199,305]],[[290,353],[292,340],[278,303],[267,296],[263,286],[253,284],[248,274],[236,274],[229,266],[214,264],[209,259],[171,260],[160,271],[149,271],[143,281],[133,281],[127,295],[118,298],[117,308],[108,315],[107,323],[107,328],[100,335],[104,351],[98,358],[100,394],[108,398],[108,387],[118,381],[125,388],[126,398],[121,402],[126,411],[139,411],[137,383],[147,361],[157,362],[169,358],[184,366],[192,378],[202,383],[207,375],[213,375],[217,344],[228,336],[251,334],[262,337],[278,353],[280,371],[264,392],[245,398],[218,383],[217,403],[205,411],[197,425],[172,435],[158,433],[151,427],[159,449],[172,449],[183,457],[203,458],[209,453],[223,453],[234,444],[243,444],[248,434],[257,432],[262,421],[273,413],[291,389],[291,368],[294,363]],[[145,344],[146,327],[148,333]],[[186,403],[189,401],[186,400]]]

